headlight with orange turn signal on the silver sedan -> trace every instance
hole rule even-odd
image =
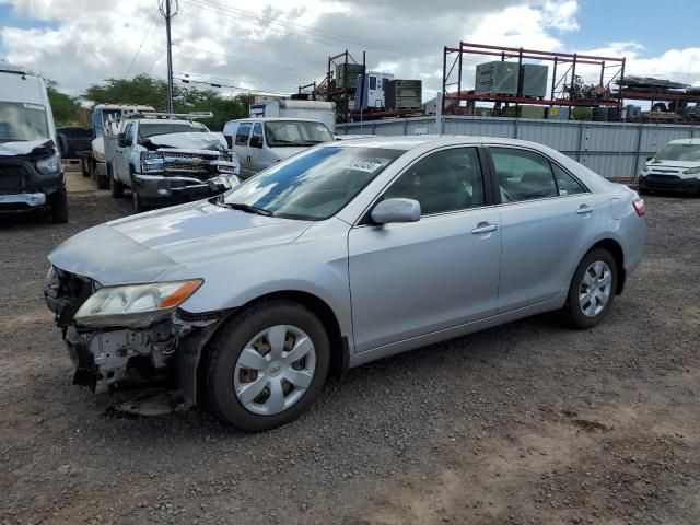
[[[184,303],[202,282],[194,279],[101,288],[78,310],[75,322],[82,326],[149,326]]]

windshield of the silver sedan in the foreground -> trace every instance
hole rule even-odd
[[[401,153],[380,148],[314,148],[260,172],[228,192],[223,201],[285,219],[328,219]]]

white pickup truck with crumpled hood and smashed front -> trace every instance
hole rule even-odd
[[[240,184],[236,154],[222,133],[194,118],[211,114],[147,113],[124,119],[116,138],[105,139],[112,196],[131,189],[137,212],[206,198]]]

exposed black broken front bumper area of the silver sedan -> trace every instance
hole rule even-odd
[[[164,413],[197,405],[200,357],[226,313],[175,311],[144,328],[81,327],[73,319],[75,312],[98,287],[55,268],[44,291],[75,366],[73,384],[95,394],[131,390],[135,398],[115,408],[133,413]],[[150,395],[143,398],[145,390]]]

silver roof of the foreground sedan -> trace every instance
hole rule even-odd
[[[340,135],[339,137],[342,137]],[[397,137],[373,137],[366,139],[353,139],[348,141],[327,142],[324,147],[338,145],[340,148],[384,148],[388,150],[412,150],[420,147],[427,149],[440,148],[442,145],[474,145],[474,144],[503,144],[521,145],[542,150],[542,144],[517,139],[500,139],[494,137],[470,137],[450,135],[416,135]]]

